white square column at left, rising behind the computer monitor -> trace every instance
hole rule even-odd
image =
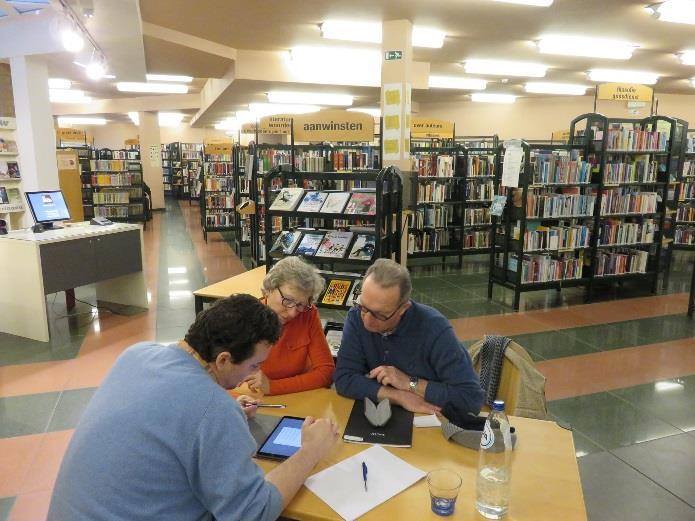
[[[56,140],[48,100],[48,67],[39,56],[10,58],[22,190],[58,190]]]

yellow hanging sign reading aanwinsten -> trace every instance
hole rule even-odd
[[[374,118],[364,112],[322,110],[294,117],[295,141],[372,141]]]

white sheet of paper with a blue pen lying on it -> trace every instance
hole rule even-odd
[[[362,462],[368,468],[366,492]],[[304,484],[340,517],[352,521],[423,477],[425,472],[375,445],[310,476]]]

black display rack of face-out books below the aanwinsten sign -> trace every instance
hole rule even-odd
[[[373,188],[360,188],[366,183]],[[402,185],[395,167],[292,172],[277,166],[263,177],[263,190],[269,203],[264,216],[266,269],[288,255],[317,264],[326,279],[317,305],[350,307],[374,259],[395,256],[400,261]],[[280,227],[274,229],[277,222]]]

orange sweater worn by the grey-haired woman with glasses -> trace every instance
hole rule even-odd
[[[297,393],[333,383],[335,363],[316,308],[283,326],[261,370],[270,382],[268,394]]]

